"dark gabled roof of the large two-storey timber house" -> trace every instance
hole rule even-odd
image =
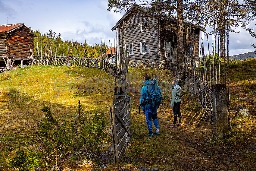
[[[134,8],[140,9],[140,10],[142,10],[142,11],[144,11],[145,9],[147,9],[147,7],[144,7],[144,6],[133,5],[133,6],[123,15],[123,17],[117,22],[117,24],[112,28],[112,31],[116,30],[117,26],[119,26],[119,25],[123,22],[123,20],[132,12],[132,10],[133,10]],[[158,18],[158,19],[160,19],[160,20],[164,20],[164,19],[169,20],[168,15],[167,15],[167,14],[164,14],[164,13],[160,13],[160,14],[159,14],[159,13],[156,13],[156,12],[149,12],[149,14],[152,15],[152,17],[156,17],[156,18]],[[176,16],[171,15],[171,16],[170,16],[170,21],[176,22],[176,18],[177,18]],[[185,22],[186,24],[192,24],[191,22],[186,21],[186,20],[184,20],[184,22]],[[203,30],[203,29],[204,29],[203,27],[198,27],[198,28],[199,28],[200,30]]]

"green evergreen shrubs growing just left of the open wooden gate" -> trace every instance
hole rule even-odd
[[[102,114],[95,113],[89,120],[83,114],[83,108],[78,100],[77,111],[75,112],[74,122],[64,122],[59,124],[57,119],[53,118],[53,113],[47,106],[42,107],[46,113],[45,118],[39,123],[39,132],[37,133],[43,154],[58,150],[58,155],[76,156],[82,154],[94,153],[101,149],[101,144],[107,134],[104,133],[106,121]],[[48,151],[48,152],[47,152]],[[53,158],[53,156],[49,156]],[[73,158],[71,157],[71,158]]]

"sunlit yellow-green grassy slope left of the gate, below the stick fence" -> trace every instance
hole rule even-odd
[[[60,121],[73,120],[78,100],[86,113],[103,112],[107,117],[108,106],[113,104],[113,92],[106,88],[108,82],[103,90],[101,86],[96,91],[90,87],[103,77],[113,81],[102,70],[77,66],[30,66],[1,73],[0,149],[3,154],[17,151],[25,142],[33,144],[36,125],[45,116],[40,110],[43,105],[49,106]]]

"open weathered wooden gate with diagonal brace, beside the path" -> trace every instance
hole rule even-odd
[[[131,140],[131,97],[128,96],[113,106],[109,106],[109,115],[114,163],[118,167],[124,150]]]

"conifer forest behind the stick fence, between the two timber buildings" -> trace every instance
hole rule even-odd
[[[31,28],[30,30],[33,31]],[[34,38],[34,52],[35,56],[39,57],[78,56],[79,58],[100,58],[101,53],[104,54],[109,49],[105,43],[89,45],[86,40],[84,43],[78,43],[76,40],[63,41],[61,34],[59,33],[56,36],[56,33],[52,30],[49,30],[47,34],[41,33],[39,30],[33,31],[33,33],[37,36]]]

